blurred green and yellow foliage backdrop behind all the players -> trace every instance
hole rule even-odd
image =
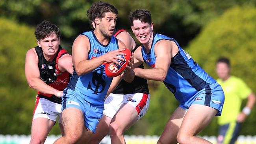
[[[91,30],[86,11],[93,2],[96,0],[0,1],[0,134],[31,133],[36,90],[26,82],[24,63],[26,52],[37,45],[36,25],[46,19],[59,26],[61,45],[71,52],[77,35]],[[128,20],[130,11],[148,9],[154,31],[176,39],[210,76],[217,78],[215,61],[218,57],[229,57],[232,74],[242,78],[256,92],[256,0],[107,2],[119,11],[117,29],[126,29],[134,36]],[[163,83],[148,81],[148,84],[151,95],[148,112],[125,132],[127,135],[160,135],[169,116],[178,107]],[[255,124],[254,108],[240,134],[256,135]],[[217,135],[217,132],[215,117],[199,135]],[[60,134],[58,125],[50,134]]]

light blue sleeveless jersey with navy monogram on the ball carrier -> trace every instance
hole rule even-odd
[[[118,42],[115,37],[111,37],[109,43],[104,46],[97,39],[93,31],[82,33],[89,38],[90,51],[88,59],[94,59],[104,55],[109,51],[118,50]],[[104,99],[108,92],[109,85],[113,78],[106,76],[105,63],[88,74],[78,76],[74,70],[68,89],[75,90],[86,101],[94,105],[104,105]]]

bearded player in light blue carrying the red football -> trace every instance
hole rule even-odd
[[[87,11],[94,30],[79,35],[72,46],[74,72],[63,91],[61,114],[65,135],[55,144],[86,144],[102,118],[104,99],[113,78],[106,76],[104,63],[116,59],[125,45],[114,36],[117,9],[107,2],[96,2]],[[122,48],[122,49],[119,49]]]

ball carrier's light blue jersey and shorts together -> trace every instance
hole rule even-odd
[[[104,46],[97,40],[93,31],[82,33],[82,35],[88,37],[90,41],[88,59],[94,59],[109,51],[119,49],[114,36]],[[67,88],[63,90],[62,110],[69,107],[80,109],[84,115],[85,126],[95,133],[96,126],[102,118],[104,99],[112,79],[105,74],[105,63],[81,76],[78,76],[74,70]]]

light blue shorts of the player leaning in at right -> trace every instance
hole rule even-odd
[[[188,110],[193,104],[206,105],[218,110],[216,116],[221,116],[224,104],[224,92],[219,83],[212,83],[208,87],[198,91],[190,100],[179,105],[182,109]]]

